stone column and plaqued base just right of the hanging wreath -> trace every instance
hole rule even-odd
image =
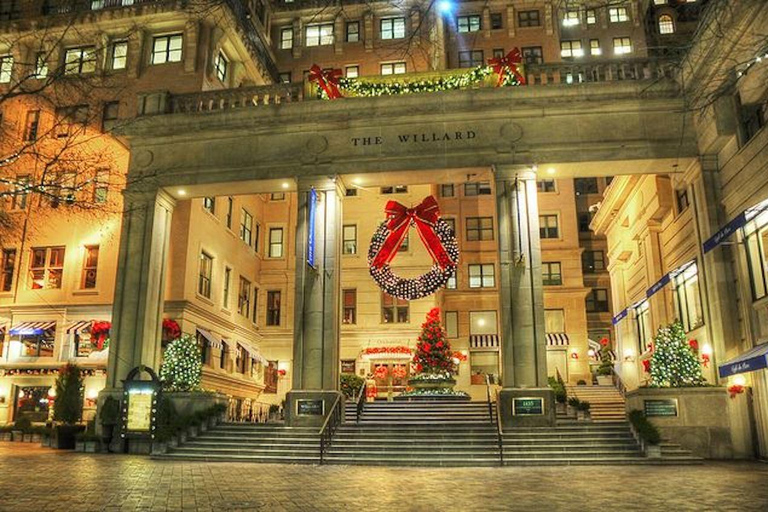
[[[544,292],[536,174],[525,167],[495,169],[499,222],[499,309],[505,427],[552,425],[554,395],[547,386]],[[542,414],[513,415],[515,399],[543,400]]]

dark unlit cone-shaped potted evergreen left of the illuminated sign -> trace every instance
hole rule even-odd
[[[78,425],[83,414],[83,378],[75,364],[66,364],[56,379],[56,400],[53,403],[52,446],[59,449],[75,448],[75,436],[85,430]]]

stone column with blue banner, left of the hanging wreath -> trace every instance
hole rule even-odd
[[[310,230],[310,194],[314,213],[314,267],[307,262]],[[334,179],[299,183],[296,229],[296,296],[293,326],[293,389],[286,397],[288,425],[320,425],[341,396],[339,389],[339,308],[341,294],[341,198]],[[320,414],[299,414],[304,405],[322,406]]]

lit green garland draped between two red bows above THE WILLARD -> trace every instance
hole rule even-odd
[[[344,96],[374,97],[413,94],[420,92],[454,91],[476,85],[493,74],[493,67],[478,66],[467,73],[434,79],[421,79],[413,82],[369,82],[360,78],[339,78],[339,90]],[[520,85],[513,73],[504,74],[504,86]],[[321,87],[317,88],[317,97],[328,99]]]

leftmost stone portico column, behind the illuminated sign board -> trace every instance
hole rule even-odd
[[[158,370],[165,273],[175,200],[164,191],[125,192],[107,389],[131,369]]]

